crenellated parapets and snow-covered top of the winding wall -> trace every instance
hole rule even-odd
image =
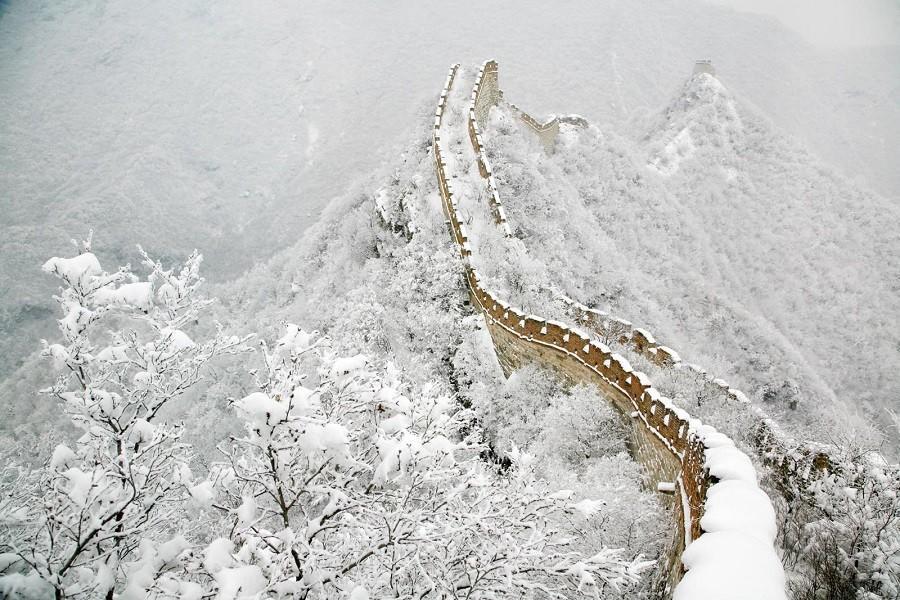
[[[680,580],[673,592],[676,600],[785,598],[784,570],[774,549],[774,509],[757,484],[756,471],[749,457],[727,436],[692,418],[663,397],[646,375],[633,371],[624,358],[592,339],[587,332],[525,314],[485,289],[470,261],[472,249],[463,218],[457,211],[447,162],[442,156],[440,128],[458,67],[451,68],[441,92],[435,114],[433,151],[442,207],[465,261],[466,280],[475,305],[489,326],[501,328],[522,344],[551,348],[561,353],[565,360],[588,368],[607,389],[613,389],[627,399],[648,435],[661,441],[677,458],[681,471],[675,481],[673,527],[680,530],[682,535],[677,539],[684,540],[685,547],[675,549],[681,555],[681,561],[680,564],[676,561],[678,572],[670,578]],[[492,78],[488,86],[483,81],[485,73]],[[483,105],[496,103],[500,97],[496,73],[497,65],[493,61],[485,63],[479,72],[471,95],[467,127],[479,172],[487,180],[495,220],[509,235],[477,123],[477,117],[486,113]],[[494,91],[480,101],[479,91],[483,86]],[[583,320],[602,317],[598,311],[587,309]],[[680,363],[674,351],[656,344],[648,332],[633,330],[630,323],[624,321],[618,323],[627,324],[632,343],[660,364]],[[731,390],[724,382],[723,385],[726,393],[738,401],[743,400],[740,392]]]

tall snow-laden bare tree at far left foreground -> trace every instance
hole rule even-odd
[[[83,435],[57,446],[28,490],[27,528],[0,561],[0,592],[33,591],[24,576],[56,598],[112,598],[127,572],[159,575],[134,562],[136,550],[171,535],[191,482],[182,428],[163,411],[211,360],[243,348],[221,329],[203,341],[187,333],[210,303],[198,295],[196,252],[174,271],[141,251],[150,271],[141,280],[127,266],[104,271],[90,239],[79,250],[44,264],[63,284],[63,316],[62,339],[44,342],[43,354],[62,370],[44,391]]]

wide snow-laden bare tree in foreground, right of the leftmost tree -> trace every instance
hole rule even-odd
[[[231,519],[203,560],[220,597],[593,596],[652,564],[575,552],[557,523],[599,503],[549,493],[524,453],[497,478],[458,435],[470,417],[405,393],[395,369],[336,359],[296,327],[265,363],[234,402],[246,434],[211,474]]]

